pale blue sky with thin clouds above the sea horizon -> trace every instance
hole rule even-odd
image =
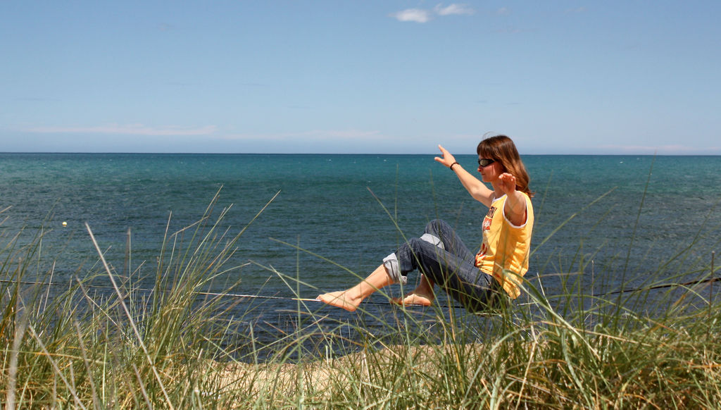
[[[721,154],[721,1],[0,1],[0,152]]]

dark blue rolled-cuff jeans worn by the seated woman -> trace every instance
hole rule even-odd
[[[418,269],[461,302],[467,310],[483,310],[503,296],[503,289],[475,265],[472,253],[454,229],[435,219],[421,237],[413,237],[384,259],[395,282],[406,282],[406,274]]]

